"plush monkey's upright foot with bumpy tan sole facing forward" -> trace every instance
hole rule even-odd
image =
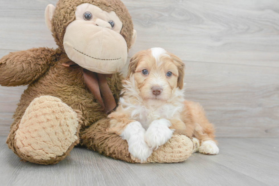
[[[57,97],[35,98],[11,128],[7,144],[25,161],[56,164],[79,143],[80,118]]]

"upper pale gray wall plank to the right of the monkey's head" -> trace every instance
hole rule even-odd
[[[162,47],[182,60],[279,66],[276,0],[124,0],[138,31],[131,53]]]

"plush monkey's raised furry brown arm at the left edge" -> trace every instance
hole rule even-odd
[[[9,53],[0,59],[0,85],[28,85],[42,76],[57,60],[57,50],[33,48]]]

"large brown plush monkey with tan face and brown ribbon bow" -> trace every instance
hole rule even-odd
[[[46,25],[57,49],[33,48],[0,60],[2,86],[28,85],[7,137],[22,160],[56,164],[77,144],[127,162],[140,162],[128,143],[106,132],[123,79],[119,71],[136,41],[131,16],[120,0],[59,0],[48,5]],[[180,162],[193,143],[182,131],[147,162]]]

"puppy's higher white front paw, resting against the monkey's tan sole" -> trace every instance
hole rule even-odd
[[[151,149],[157,149],[164,145],[172,136],[173,131],[169,129],[171,122],[166,119],[154,120],[147,131],[144,139]]]

